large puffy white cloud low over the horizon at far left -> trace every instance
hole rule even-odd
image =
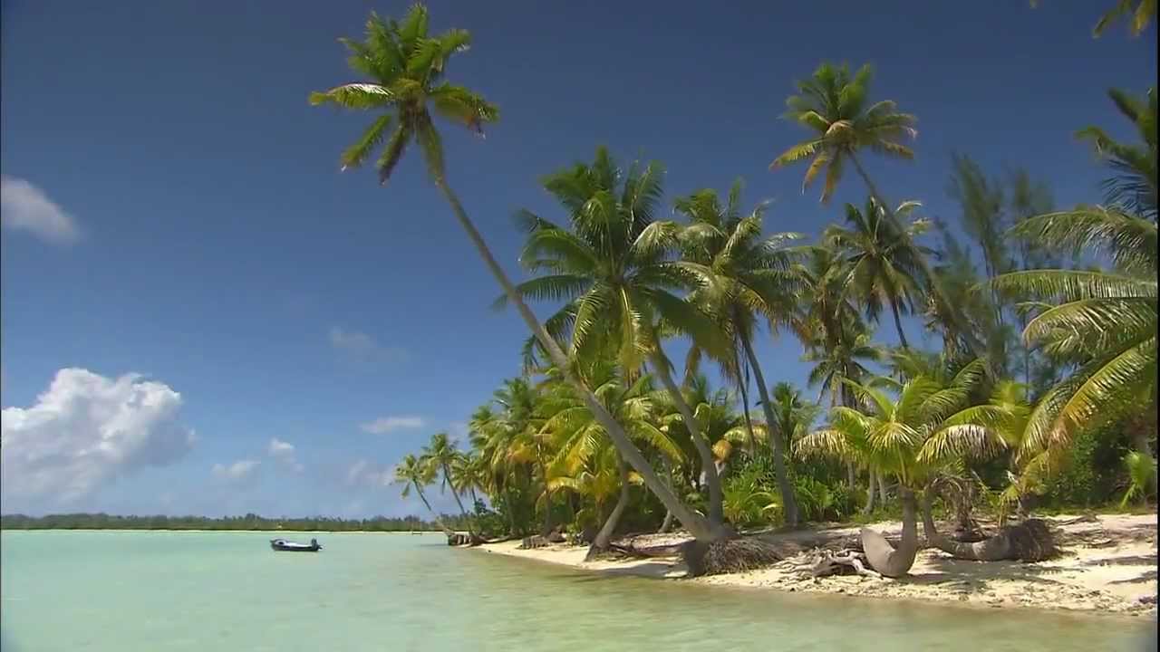
[[[181,394],[126,374],[61,369],[31,407],[0,412],[3,512],[60,507],[144,466],[165,466],[197,441],[177,422]]]

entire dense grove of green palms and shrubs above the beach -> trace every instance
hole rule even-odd
[[[1121,2],[1100,29],[1131,14],[1140,30],[1152,13]],[[436,130],[436,118],[481,132],[499,117],[444,78],[469,42],[432,36],[422,6],[400,21],[371,14],[363,41],[342,39],[361,79],[311,95],[376,116],[340,155],[345,169],[380,150],[385,183],[418,144],[503,290],[496,307],[531,333],[513,352],[522,374],[461,441],[436,434],[397,466],[444,530],[432,491],[450,494],[472,541],[567,535],[593,555],[618,533],[677,526],[703,553],[877,500],[901,512],[902,539],[864,530],[863,546],[875,570],[901,575],[930,499],[964,527],[977,507],[1154,499],[1154,89],[1110,93],[1138,142],[1076,133],[1110,171],[1099,203],[1057,209],[1030,173],[989,175],[956,153],[948,197],[960,210],[945,219],[890,203],[864,166],[914,159],[918,118],[873,97],[869,65],[824,63],[786,101],[809,138],[770,167],[807,162],[803,191],[822,175],[822,203],[853,167],[865,195],[814,241],[767,232],[769,205],[745,208],[740,181],[667,200],[662,164],[602,146],[542,179],[552,215],[516,212],[516,282],[451,190]],[[800,347],[806,386],[780,377],[770,342]]]

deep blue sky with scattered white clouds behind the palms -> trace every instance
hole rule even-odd
[[[1154,28],[1090,37],[1100,3],[430,5],[474,36],[449,78],[502,110],[486,140],[444,140],[513,274],[512,212],[558,217],[537,179],[597,144],[664,161],[666,201],[744,176],[769,230],[839,219],[855,178],[821,207],[804,169],[768,171],[803,138],[784,99],[822,59],[875,64],[875,96],[919,116],[916,161],[868,167],[948,219],[952,151],[1027,167],[1059,205],[1097,200],[1072,132],[1126,136],[1104,92],[1157,73]],[[2,7],[5,512],[418,513],[382,473],[462,436],[525,329],[488,309],[498,288],[421,164],[387,188],[340,174],[368,118],[306,102],[351,79],[336,37],[406,5]],[[759,353],[770,382],[804,379],[796,341]]]

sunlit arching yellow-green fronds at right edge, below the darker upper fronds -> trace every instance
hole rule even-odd
[[[1047,464],[1075,433],[1155,400],[1157,225],[1116,208],[1081,208],[1024,220],[1012,230],[1060,251],[1107,256],[1110,271],[1035,269],[994,282],[1005,291],[1046,302],[1023,338],[1075,374],[1049,390],[1031,414],[1020,457]],[[1151,456],[1148,434],[1136,448]]]

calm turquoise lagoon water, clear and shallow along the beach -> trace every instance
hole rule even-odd
[[[3,533],[3,652],[1144,650],[1154,623],[609,577],[438,535]],[[1152,649],[1151,645],[1147,646]]]

